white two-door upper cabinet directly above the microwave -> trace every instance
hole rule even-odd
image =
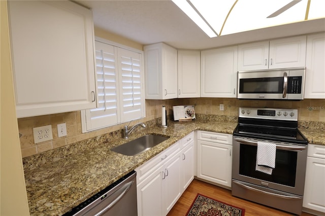
[[[305,67],[306,35],[238,46],[238,70]]]

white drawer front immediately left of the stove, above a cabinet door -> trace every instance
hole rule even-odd
[[[218,142],[218,143],[233,145],[233,135],[232,134],[199,130],[198,131],[198,139],[210,141],[210,142]]]

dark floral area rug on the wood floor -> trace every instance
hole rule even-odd
[[[191,207],[188,209],[187,216],[244,216],[245,209],[238,208],[204,195],[198,194]]]

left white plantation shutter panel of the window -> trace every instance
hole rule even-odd
[[[96,80],[99,106],[86,110],[86,127],[88,130],[107,127],[120,122],[118,109],[118,70],[117,48],[95,41]]]

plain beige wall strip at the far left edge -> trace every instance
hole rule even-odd
[[[0,215],[29,215],[14,102],[7,1],[0,1],[0,10]]]

